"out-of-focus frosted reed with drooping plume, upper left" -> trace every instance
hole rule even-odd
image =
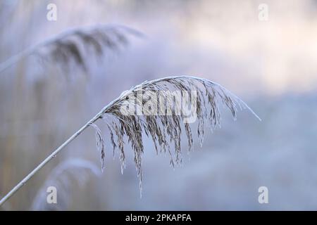
[[[129,42],[129,36],[143,37],[143,34],[123,25],[94,25],[77,27],[56,35],[51,39],[30,47],[0,64],[0,72],[30,55],[39,56],[42,61],[57,63],[68,70],[71,63],[87,72],[87,56],[101,56],[106,50],[116,51]]]

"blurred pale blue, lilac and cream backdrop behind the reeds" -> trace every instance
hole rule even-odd
[[[57,5],[56,22],[46,20],[49,3]],[[258,18],[262,3],[268,21]],[[68,188],[58,190],[57,206],[47,205],[42,192],[62,163],[79,158],[100,167],[88,129],[1,210],[35,209],[41,195],[44,210],[317,210],[317,1],[1,0],[0,62],[70,27],[96,23],[134,27],[147,38],[109,52],[104,63],[91,60],[88,76],[74,71],[67,79],[54,65],[39,70],[30,59],[1,72],[1,196],[106,103],[146,79],[211,79],[263,121],[242,111],[234,122],[223,111],[222,129],[207,132],[204,146],[196,142],[175,169],[146,141],[141,199],[129,154],[123,175],[111,157],[104,174],[85,172],[82,185],[82,169],[70,168],[75,179],[61,173]],[[258,203],[259,186],[268,187],[268,204]]]

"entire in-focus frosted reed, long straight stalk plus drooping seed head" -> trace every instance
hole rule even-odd
[[[200,85],[200,86],[199,86]],[[240,98],[232,94],[230,91],[225,89],[220,84],[211,82],[208,79],[201,79],[199,77],[193,76],[174,76],[174,77],[163,77],[160,79],[154,79],[151,81],[143,82],[137,86],[133,86],[128,91],[123,91],[123,93],[115,100],[108,103],[97,115],[92,117],[84,126],[75,132],[68,140],[66,140],[61,146],[56,148],[56,150],[51,153],[45,160],[43,160],[35,169],[27,174],[25,178],[20,181],[14,188],[9,191],[4,198],[0,200],[0,205],[4,204],[8,198],[14,195],[22,186],[24,186],[27,181],[29,181],[32,176],[34,176],[39,169],[44,167],[47,162],[51,161],[56,155],[70,142],[79,136],[82,131],[87,129],[87,127],[93,127],[96,130],[96,141],[97,148],[101,152],[101,169],[104,169],[104,158],[105,158],[105,145],[104,139],[101,136],[101,130],[97,127],[94,122],[99,119],[104,119],[106,122],[108,130],[111,136],[111,145],[114,150],[117,149],[120,154],[121,169],[125,168],[125,152],[124,152],[124,141],[123,138],[128,138],[132,150],[134,151],[134,161],[135,167],[137,169],[137,176],[139,177],[139,189],[140,194],[142,193],[142,153],[144,151],[142,133],[151,137],[156,153],[168,153],[170,155],[170,164],[178,164],[182,162],[181,157],[181,132],[182,126],[181,122],[185,121],[184,115],[178,115],[178,107],[180,103],[175,103],[177,106],[173,107],[174,96],[168,93],[171,89],[178,91],[197,91],[197,136],[199,142],[202,145],[204,140],[204,122],[209,120],[209,127],[211,131],[220,127],[220,109],[219,104],[226,105],[232,116],[236,119],[237,111],[242,109],[248,109],[254,116],[256,116],[260,121],[256,113],[254,113],[249,106],[244,103]],[[144,101],[142,98],[137,96],[137,92],[141,91],[150,92],[151,103],[153,105],[157,104],[155,97],[158,97],[160,91],[166,91],[159,96],[160,100],[163,98],[163,102],[166,103],[166,110],[172,112],[171,115],[148,115],[147,109],[144,108]],[[161,93],[161,92],[160,92]],[[206,99],[205,99],[206,98]],[[130,100],[129,100],[130,99]],[[156,98],[158,99],[158,98]],[[142,108],[144,115],[124,115],[121,111],[121,107],[126,103],[126,101],[133,103],[136,108]],[[112,121],[108,121],[106,115],[111,115],[113,117]],[[185,134],[188,141],[188,151],[192,148],[192,129],[188,123],[184,123]],[[184,129],[184,128],[183,128]],[[114,139],[116,136],[117,139]],[[170,150],[170,143],[174,143],[174,153]]]

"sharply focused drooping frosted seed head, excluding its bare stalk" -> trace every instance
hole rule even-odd
[[[236,119],[237,111],[248,109],[261,120],[240,98],[220,84],[192,76],[176,76],[154,79],[133,86],[109,103],[101,112],[111,136],[113,151],[118,149],[121,168],[125,167],[124,139],[128,139],[134,151],[135,167],[142,182],[143,135],[154,143],[156,153],[168,153],[170,164],[182,162],[181,134],[185,131],[187,151],[192,149],[191,122],[197,120],[199,143],[204,141],[205,125],[211,131],[220,127],[220,105],[225,105]],[[97,146],[101,133],[97,125]],[[101,160],[103,161],[101,149]],[[141,190],[141,189],[140,189]]]

